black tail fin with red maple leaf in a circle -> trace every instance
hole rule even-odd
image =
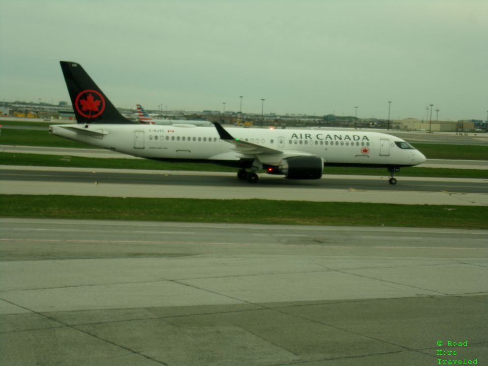
[[[80,64],[60,61],[79,124],[131,124],[121,115]]]

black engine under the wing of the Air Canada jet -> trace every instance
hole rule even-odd
[[[324,160],[318,156],[301,156],[283,159],[277,168],[269,168],[269,174],[285,174],[288,179],[320,179],[324,172]]]

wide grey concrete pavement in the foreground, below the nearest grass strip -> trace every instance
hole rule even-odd
[[[0,220],[0,363],[488,359],[482,230]],[[466,347],[437,342],[465,341]]]

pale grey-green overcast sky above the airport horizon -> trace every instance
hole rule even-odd
[[[486,0],[2,0],[0,100],[68,101],[59,60],[118,107],[485,119]]]

